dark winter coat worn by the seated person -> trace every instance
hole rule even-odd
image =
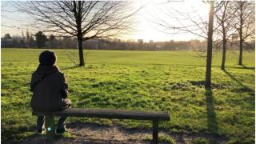
[[[39,65],[31,78],[33,96],[30,106],[34,111],[56,111],[68,107],[68,85],[65,75],[56,66]]]

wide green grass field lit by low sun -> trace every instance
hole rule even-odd
[[[2,49],[2,141],[21,142],[35,132],[31,115],[30,76],[42,50]],[[168,111],[160,129],[173,133],[213,134],[230,143],[254,143],[254,52],[214,54],[213,90],[206,91],[205,58],[189,51],[90,50],[85,67],[74,67],[66,51],[53,50],[66,74],[73,107]],[[72,50],[70,50],[71,52]],[[118,124],[148,129],[150,122],[69,118],[71,122]]]

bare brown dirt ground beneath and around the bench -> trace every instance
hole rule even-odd
[[[150,143],[152,138],[151,130],[125,129],[120,126],[98,126],[91,123],[71,124],[68,127],[70,134],[75,138],[57,138],[53,143]],[[167,135],[174,138],[176,143],[190,143],[194,138],[206,138],[216,143],[225,143],[226,138],[213,134],[185,134],[171,133],[167,130],[160,130],[159,135]],[[34,135],[26,138],[22,143],[47,143],[46,137]],[[169,142],[160,142],[169,143]]]

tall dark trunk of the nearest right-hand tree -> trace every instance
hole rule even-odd
[[[206,89],[211,88],[211,59],[213,48],[213,28],[214,27],[214,1],[210,1],[209,24],[208,24],[208,40],[207,40],[207,58],[206,58]]]

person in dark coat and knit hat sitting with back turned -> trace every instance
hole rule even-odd
[[[33,92],[30,106],[34,111],[52,112],[70,107],[68,85],[65,75],[55,66],[56,55],[50,50],[43,51],[39,55],[39,66],[32,74],[30,91]],[[65,116],[58,119],[57,134],[67,132]],[[42,134],[44,116],[38,116],[37,129]]]

